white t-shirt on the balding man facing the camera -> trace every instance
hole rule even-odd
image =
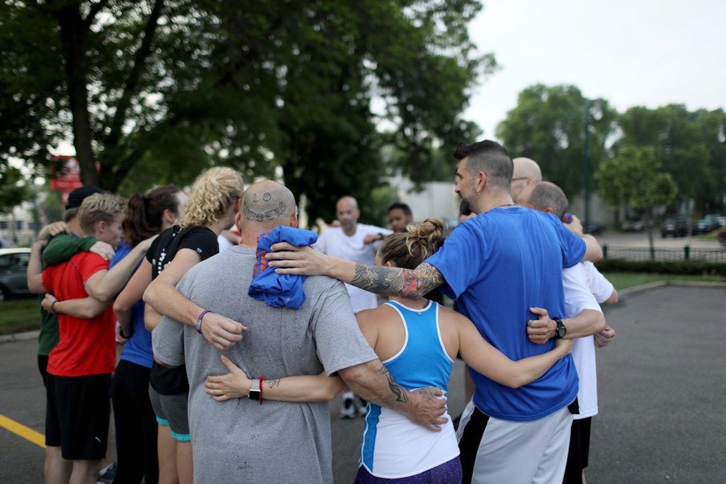
[[[366,225],[365,223],[359,223],[356,227],[356,233],[351,236],[346,235],[340,227],[330,227],[318,237],[313,247],[327,255],[362,264],[372,264],[375,260],[375,253],[378,252],[378,247],[380,247],[380,241],[364,244],[363,239],[368,234],[389,235],[391,233],[388,229]],[[351,306],[354,313],[375,308],[378,305],[378,300],[372,292],[364,291],[351,286],[351,284],[346,284],[346,289],[351,297]]]

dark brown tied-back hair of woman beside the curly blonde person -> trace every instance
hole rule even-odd
[[[138,193],[129,198],[126,217],[123,218],[123,238],[134,247],[144,239],[148,239],[161,231],[164,210],[176,213],[179,200],[176,198],[181,190],[174,185],[160,186],[145,195]]]

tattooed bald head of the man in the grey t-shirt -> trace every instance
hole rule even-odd
[[[277,181],[263,180],[253,184],[242,195],[240,231],[259,234],[277,226],[297,226],[297,210],[293,192]]]

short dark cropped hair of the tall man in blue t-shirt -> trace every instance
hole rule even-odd
[[[454,159],[464,158],[468,158],[467,168],[472,175],[484,171],[492,188],[511,189],[514,164],[509,152],[501,144],[489,139],[472,144],[462,143],[454,151]]]

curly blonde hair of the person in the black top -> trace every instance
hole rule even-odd
[[[229,207],[242,198],[242,175],[232,168],[217,167],[203,171],[192,185],[184,204],[182,227],[208,226],[218,221]]]

